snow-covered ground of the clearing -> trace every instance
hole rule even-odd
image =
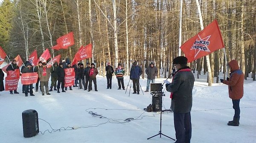
[[[234,114],[227,85],[214,83],[208,87],[206,79],[207,75],[201,75],[195,81],[191,143],[256,143],[256,82],[250,78],[244,81],[240,125],[227,126]],[[156,83],[163,80],[156,79]],[[106,89],[106,78],[97,76],[98,92],[94,91],[94,87],[91,92],[73,87],[73,91],[67,90],[66,93],[53,91],[51,95],[42,96],[41,92],[34,92],[35,96],[25,97],[21,93],[21,84],[17,90],[20,94],[0,92],[0,143],[174,143],[159,135],[147,140],[160,130],[160,113],[145,112],[143,108],[152,101],[150,93],[143,95],[140,91],[140,95],[129,96],[129,78],[125,76],[124,81],[125,89],[128,87],[126,94],[125,90],[117,90],[115,76],[111,90]],[[145,91],[146,79],[140,79],[140,85]],[[170,93],[164,92],[163,109],[169,109]],[[30,138],[23,137],[22,112],[27,109],[35,109],[40,118],[40,132]],[[90,111],[103,118],[93,117]],[[125,121],[127,118],[136,120],[128,122]],[[50,123],[53,129],[61,131],[53,132],[49,124],[41,119]],[[162,133],[175,138],[171,112],[162,114]]]

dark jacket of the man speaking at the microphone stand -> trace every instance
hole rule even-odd
[[[172,93],[172,110],[176,113],[187,113],[192,108],[192,90],[195,78],[189,67],[177,70],[171,84],[166,90]]]

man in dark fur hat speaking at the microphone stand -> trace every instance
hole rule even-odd
[[[173,59],[177,71],[173,76],[172,83],[166,84],[166,90],[171,92],[172,110],[174,116],[174,127],[176,132],[175,143],[190,143],[191,139],[191,116],[192,90],[195,78],[190,67],[187,66],[188,59],[178,56]]]

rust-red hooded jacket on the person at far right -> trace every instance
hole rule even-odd
[[[232,60],[228,63],[230,67],[230,78],[223,83],[228,85],[229,97],[233,100],[239,100],[244,95],[244,73],[239,69],[238,62]]]

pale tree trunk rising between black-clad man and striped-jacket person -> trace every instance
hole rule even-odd
[[[115,67],[118,65],[118,43],[116,27],[116,0],[113,0],[113,31],[114,31],[114,48],[115,48]]]

